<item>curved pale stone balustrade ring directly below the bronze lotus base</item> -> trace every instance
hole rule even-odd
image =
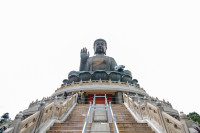
[[[52,96],[59,96],[64,92],[77,92],[77,91],[89,91],[89,90],[111,90],[111,91],[123,91],[137,93],[142,96],[147,96],[143,88],[131,83],[125,83],[121,81],[111,81],[111,80],[89,80],[72,82],[71,84],[63,85],[58,88]]]

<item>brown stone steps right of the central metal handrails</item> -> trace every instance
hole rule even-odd
[[[113,104],[113,113],[116,115],[117,127],[120,133],[155,133],[146,123],[137,123],[124,104]],[[114,133],[113,124],[110,124],[111,133]]]

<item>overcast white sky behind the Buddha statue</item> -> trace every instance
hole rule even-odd
[[[0,115],[53,94],[98,38],[149,95],[200,113],[199,0],[1,0]]]

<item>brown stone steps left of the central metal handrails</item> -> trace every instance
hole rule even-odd
[[[65,122],[54,123],[47,133],[81,133],[85,122],[83,114],[87,114],[88,109],[89,104],[77,104]],[[90,132],[90,123],[88,123],[87,129]]]

